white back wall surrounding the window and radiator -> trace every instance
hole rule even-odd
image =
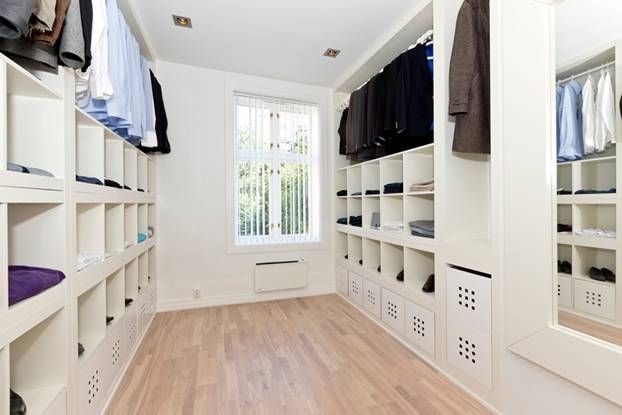
[[[158,158],[158,303],[160,310],[249,302],[275,297],[334,292],[332,234],[323,232],[323,249],[301,252],[227,254],[225,180],[225,101],[232,82],[264,91],[291,91],[324,97],[332,104],[332,91],[289,82],[158,62],[169,119],[172,152]],[[334,111],[324,108],[322,141],[333,142]],[[327,166],[330,166],[330,160]],[[328,167],[330,168],[330,167]],[[332,176],[330,176],[332,177]],[[322,222],[331,207],[327,197],[332,179],[323,180]],[[326,227],[329,229],[328,227]],[[255,295],[253,267],[267,260],[304,258],[309,262],[305,290]],[[193,288],[203,298],[192,299]]]

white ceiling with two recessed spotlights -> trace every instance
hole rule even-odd
[[[159,60],[335,87],[421,1],[134,0],[134,7]],[[174,26],[172,14],[191,17],[193,28]],[[329,47],[341,55],[323,57]]]

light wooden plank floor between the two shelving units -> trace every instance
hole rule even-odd
[[[487,414],[336,295],[158,314],[108,414]]]

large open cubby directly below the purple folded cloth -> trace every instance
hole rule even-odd
[[[8,349],[10,388],[24,399],[28,414],[45,414],[67,388],[66,311],[52,314]]]

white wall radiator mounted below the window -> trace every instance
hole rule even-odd
[[[304,288],[309,279],[309,264],[302,260],[255,264],[255,292]]]

